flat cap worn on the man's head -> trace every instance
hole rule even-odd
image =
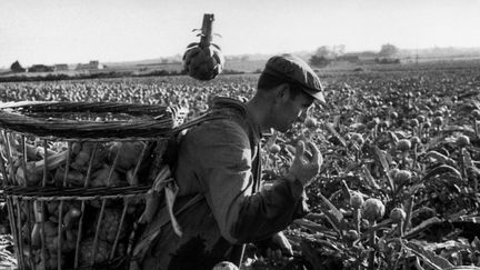
[[[267,61],[264,73],[298,84],[304,92],[323,103],[323,87],[314,71],[300,58],[292,54],[274,56]]]

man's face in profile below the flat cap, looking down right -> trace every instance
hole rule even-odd
[[[294,98],[289,97],[281,102],[276,110],[276,130],[286,132],[292,128],[296,121],[303,122],[308,116],[309,109],[313,104],[313,98],[307,93],[300,92]]]

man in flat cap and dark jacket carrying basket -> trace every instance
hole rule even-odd
[[[286,132],[304,120],[314,100],[324,102],[319,78],[290,54],[269,59],[248,102],[216,99],[211,110],[220,119],[190,129],[179,149],[174,210],[182,234],[171,222],[159,228],[156,220],[168,216],[162,207],[141,237],[148,248],[136,252],[139,267],[211,269],[224,260],[239,264],[244,243],[266,239],[291,252],[281,231],[306,213],[303,191],[319,173],[322,157],[313,143],[300,142],[289,172],[260,191],[261,131]]]

